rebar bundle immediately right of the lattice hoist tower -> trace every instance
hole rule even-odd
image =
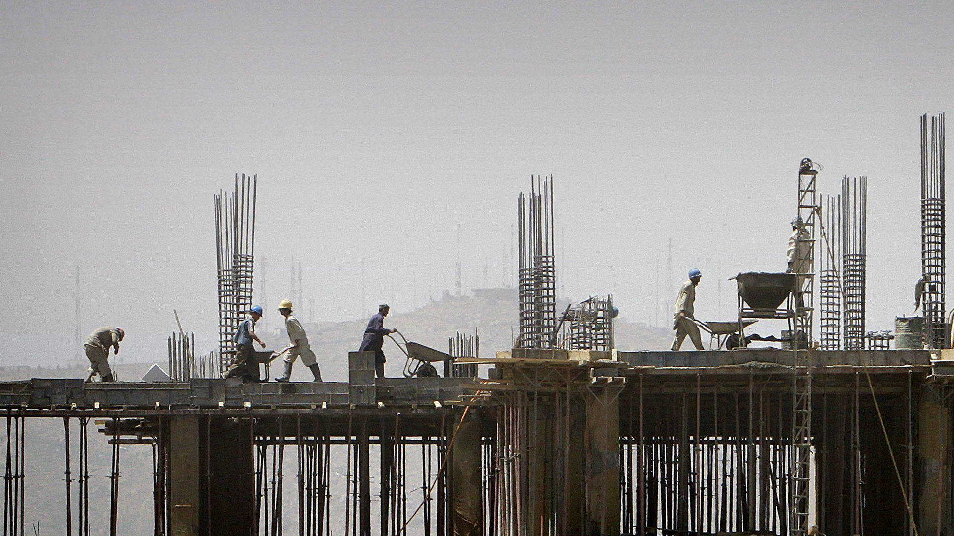
[[[841,348],[841,196],[826,196],[819,251],[819,342],[822,350]]]

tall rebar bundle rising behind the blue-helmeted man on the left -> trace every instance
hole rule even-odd
[[[236,174],[235,190],[215,197],[218,270],[218,351],[235,350],[232,336],[252,305],[255,212],[259,175]],[[223,360],[224,366],[231,364]],[[224,372],[224,370],[222,370]]]

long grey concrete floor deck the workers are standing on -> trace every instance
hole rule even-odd
[[[932,374],[926,350],[807,351],[817,376],[918,372]],[[515,355],[519,357],[508,357]],[[646,376],[671,381],[686,375],[719,381],[726,375],[781,375],[790,370],[793,352],[746,349],[702,352],[586,352],[514,350],[497,358],[462,359],[462,363],[508,367],[583,367],[594,379]],[[934,363],[946,361],[933,361]],[[493,382],[494,374],[491,373]],[[0,408],[36,411],[93,411],[155,415],[221,411],[276,414],[303,411],[350,412],[358,408],[433,410],[461,405],[487,387],[469,378],[383,378],[356,385],[345,381],[242,383],[238,379],[193,379],[168,382],[91,382],[81,379],[34,378],[0,382]]]

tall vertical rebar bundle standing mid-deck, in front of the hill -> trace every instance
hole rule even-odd
[[[556,329],[553,261],[553,177],[530,177],[529,196],[517,198],[520,338],[518,348],[550,348]]]

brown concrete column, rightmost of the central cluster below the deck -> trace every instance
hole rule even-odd
[[[591,387],[587,396],[584,534],[619,534],[619,392]]]

